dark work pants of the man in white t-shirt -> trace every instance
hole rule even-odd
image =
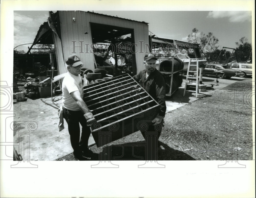
[[[70,135],[71,146],[74,149],[74,152],[79,153],[80,150],[88,149],[88,139],[91,134],[90,127],[86,125],[86,119],[83,116],[82,111],[71,111],[62,107],[63,118],[68,123],[68,132]],[[82,125],[82,134],[80,139],[80,126]],[[80,145],[80,147],[79,147]]]

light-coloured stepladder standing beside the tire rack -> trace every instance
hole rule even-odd
[[[189,59],[187,78],[186,78],[186,82],[185,82],[185,88],[184,88],[183,96],[185,96],[186,91],[190,91],[190,92],[196,92],[196,98],[197,98],[197,94],[198,94],[198,81],[199,81],[199,75],[198,75],[199,63],[198,63],[198,60],[199,59]],[[196,64],[194,64],[195,62],[196,62]],[[196,66],[196,71],[192,71],[191,68],[190,68],[191,66]],[[196,81],[196,84],[193,83],[193,81]],[[196,86],[196,90],[195,91],[193,91],[193,90],[186,90],[187,85],[189,85],[189,86]]]

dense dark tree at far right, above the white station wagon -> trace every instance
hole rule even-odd
[[[248,43],[248,39],[246,37],[242,37],[239,42],[235,42],[237,59],[239,62],[252,60],[251,53],[252,53],[252,44]]]

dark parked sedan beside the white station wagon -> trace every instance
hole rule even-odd
[[[232,76],[241,75],[241,72],[231,69],[228,66],[219,64],[206,64],[203,69],[204,76],[215,76],[218,78],[231,78]]]

